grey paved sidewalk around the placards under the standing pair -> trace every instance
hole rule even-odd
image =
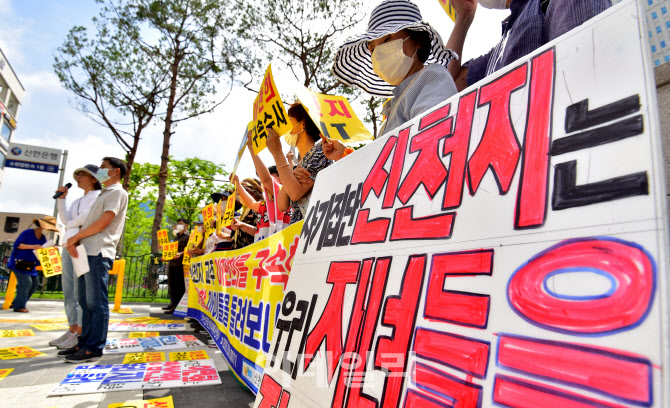
[[[0,301],[1,304],[1,301]],[[110,313],[110,319],[127,319],[132,317],[152,316],[161,319],[182,319],[162,313],[160,307],[163,305],[138,305],[124,304],[122,307],[130,307],[134,314]],[[116,391],[97,394],[83,394],[72,396],[47,397],[47,394],[72,370],[77,364],[64,363],[56,356],[56,347],[48,345],[50,340],[60,336],[64,330],[40,331],[30,324],[33,323],[6,323],[5,319],[16,320],[41,320],[64,318],[62,301],[31,300],[28,302],[30,313],[14,313],[10,310],[0,310],[0,330],[22,330],[32,329],[35,336],[31,337],[2,337],[0,348],[28,346],[32,347],[46,356],[23,358],[15,360],[0,360],[0,369],[14,368],[8,377],[0,380],[0,398],[2,404],[8,407],[18,408],[107,408],[109,404],[120,403],[128,400],[152,399],[172,395],[175,407],[223,407],[240,408],[252,407],[255,396],[236,382],[228,370],[228,365],[216,348],[200,347],[192,350],[205,350],[216,363],[216,368],[221,377],[222,384],[214,386],[171,388],[150,391]],[[110,308],[113,304],[110,304]],[[111,311],[110,311],[111,312]],[[170,334],[193,334],[203,343],[207,343],[205,336],[193,333],[187,324],[187,332],[163,332],[161,335]],[[128,337],[128,333],[109,332],[109,339]],[[95,364],[121,364],[124,354],[105,355],[99,363]],[[166,352],[167,358],[167,352]],[[7,405],[5,405],[7,404]]]

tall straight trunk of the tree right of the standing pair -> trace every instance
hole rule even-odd
[[[181,54],[179,52],[179,42],[175,46],[175,59],[170,67],[172,77],[170,78],[170,97],[168,98],[167,111],[165,113],[165,129],[163,130],[163,151],[161,153],[161,167],[158,172],[158,199],[156,200],[156,213],[154,214],[154,224],[151,228],[151,252],[160,252],[158,247],[158,237],[156,233],[161,228],[163,222],[163,210],[165,209],[165,195],[167,193],[167,166],[170,161],[170,137],[172,136],[172,115],[175,108],[175,99],[177,94],[177,74]]]

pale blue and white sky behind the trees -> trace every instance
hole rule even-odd
[[[438,0],[415,1],[424,19],[438,27],[446,40],[453,24]],[[378,0],[365,2],[369,9],[377,3]],[[94,0],[0,0],[0,10],[0,48],[25,88],[12,141],[68,150],[64,183],[71,182],[73,170],[84,164],[98,164],[104,156],[123,157],[123,151],[108,130],[72,107],[72,96],[61,88],[52,69],[53,54],[67,32],[75,25],[89,26],[99,5]],[[507,14],[479,7],[466,41],[465,60],[488,51],[495,44],[500,35],[499,21]],[[291,79],[287,75],[275,72],[280,90],[290,86]],[[225,163],[226,168],[232,170],[241,129],[250,120],[254,98],[255,94],[250,91],[235,89],[215,112],[178,126],[174,129],[171,155],[178,159],[196,156]],[[357,113],[364,116],[362,110]],[[145,130],[137,161],[160,162],[161,131],[162,122],[154,122]],[[263,152],[261,157],[270,163],[269,154]],[[253,164],[248,157],[242,159],[238,173],[253,176]],[[5,169],[0,211],[51,214],[54,205],[51,195],[57,183],[57,175]],[[68,196],[68,201],[80,195],[75,192]]]

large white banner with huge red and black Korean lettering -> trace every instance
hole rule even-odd
[[[255,407],[669,407],[633,1],[319,173]]]

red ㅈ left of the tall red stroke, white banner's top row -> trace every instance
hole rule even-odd
[[[468,160],[470,194],[474,195],[489,168],[501,194],[509,190],[517,162],[519,141],[510,120],[510,98],[513,91],[526,83],[527,66],[508,72],[479,90],[479,106],[488,105],[489,112],[479,146]]]

